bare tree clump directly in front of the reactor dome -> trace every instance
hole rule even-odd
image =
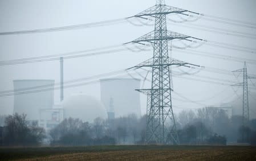
[[[101,118],[96,118],[92,124],[80,119],[64,119],[50,131],[50,135],[51,145],[115,145],[115,138],[105,135],[104,120]]]

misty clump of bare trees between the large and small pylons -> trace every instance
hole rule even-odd
[[[237,138],[240,118],[229,118],[223,109],[202,108],[196,110],[196,113],[192,110],[182,111],[178,115],[178,122],[182,127],[178,134],[183,144],[225,145],[227,138],[221,136]]]

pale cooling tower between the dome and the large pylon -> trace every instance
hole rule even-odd
[[[104,79],[100,80],[101,102],[108,113],[115,113],[115,117],[136,114],[141,117],[140,80],[135,79]]]

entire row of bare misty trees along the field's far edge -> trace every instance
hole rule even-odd
[[[256,119],[242,126],[241,116],[229,118],[222,109],[203,108],[184,110],[175,115],[181,145],[226,145],[241,142],[246,132],[246,143],[256,145]],[[48,131],[26,115],[5,117],[0,127],[2,146],[39,146],[48,142],[52,146],[143,145],[146,139],[146,116],[135,114],[115,119],[96,118],[83,122],[66,118]]]

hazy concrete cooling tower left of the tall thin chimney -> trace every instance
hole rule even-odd
[[[39,92],[14,96],[14,113],[26,114],[29,121],[38,120],[40,110],[50,109],[54,105],[54,90],[40,92],[43,88],[53,88],[54,80],[14,80],[13,84],[15,91],[39,90]]]

